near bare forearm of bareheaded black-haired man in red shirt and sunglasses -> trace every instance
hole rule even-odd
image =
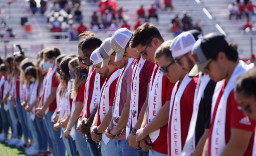
[[[170,110],[170,101],[166,101],[163,107],[159,109],[154,120],[149,122],[144,128],[144,131],[149,134],[156,131],[157,129],[162,128],[164,125],[168,124],[169,119],[169,110]]]

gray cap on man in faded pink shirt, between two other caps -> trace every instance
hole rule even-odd
[[[111,37],[105,39],[99,47],[99,53],[101,58],[103,59],[101,68],[106,66],[107,63],[109,63],[111,54],[114,52],[114,50],[110,46],[110,39]]]

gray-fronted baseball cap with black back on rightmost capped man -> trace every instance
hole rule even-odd
[[[192,47],[192,56],[196,64],[189,72],[189,76],[195,76],[213,60],[214,56],[228,46],[225,36],[217,33],[210,33],[198,39]]]

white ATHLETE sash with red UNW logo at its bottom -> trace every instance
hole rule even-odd
[[[138,119],[138,97],[139,97],[139,83],[140,83],[140,70],[144,66],[146,59],[140,58],[140,61],[133,68],[132,85],[131,85],[131,103],[130,103],[130,117],[126,126],[126,137],[129,135],[131,125],[135,126]]]

